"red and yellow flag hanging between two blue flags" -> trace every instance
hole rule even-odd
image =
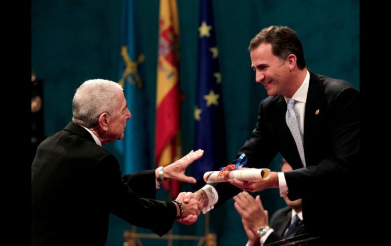
[[[160,0],[159,46],[156,82],[155,162],[166,166],[181,155],[179,90],[179,23],[176,0]],[[162,183],[171,195],[179,193],[179,182]]]

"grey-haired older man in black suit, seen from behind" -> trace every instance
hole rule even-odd
[[[102,145],[122,139],[130,118],[118,83],[88,80],[77,89],[72,122],[46,138],[32,162],[32,245],[104,245],[110,213],[160,236],[177,218],[197,218],[201,203],[183,203],[184,193],[173,202],[153,198],[166,179],[196,183],[184,172],[204,151],[121,178]]]

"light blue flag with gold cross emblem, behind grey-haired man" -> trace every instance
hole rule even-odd
[[[141,68],[145,56],[137,41],[136,14],[133,0],[122,1],[121,51],[118,83],[124,88],[127,107],[132,118],[126,122],[124,138],[116,141],[123,156],[124,174],[150,169],[148,145],[148,101]]]

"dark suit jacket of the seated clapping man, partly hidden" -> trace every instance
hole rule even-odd
[[[286,229],[290,225],[290,221],[292,218],[292,208],[289,206],[278,209],[270,219],[269,226],[273,228],[273,232],[270,233],[268,238],[265,241],[265,244],[276,242],[282,240]],[[298,236],[306,233],[304,228],[304,221],[300,221],[297,230],[292,233],[292,236]]]

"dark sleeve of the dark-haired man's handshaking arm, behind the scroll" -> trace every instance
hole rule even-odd
[[[254,130],[251,133],[251,137],[244,143],[244,146],[239,150],[237,158],[242,154],[246,154],[247,164],[246,167],[268,167],[274,156],[277,154],[275,138],[272,137],[272,127],[269,121],[265,121],[268,117],[272,117],[272,110],[265,106],[265,100],[259,104],[258,119]],[[262,150],[262,151],[259,151]],[[236,159],[237,160],[237,159]],[[234,160],[231,163],[235,163]],[[218,202],[216,206],[219,206],[227,199],[235,196],[240,189],[229,183],[213,184],[218,192]]]

